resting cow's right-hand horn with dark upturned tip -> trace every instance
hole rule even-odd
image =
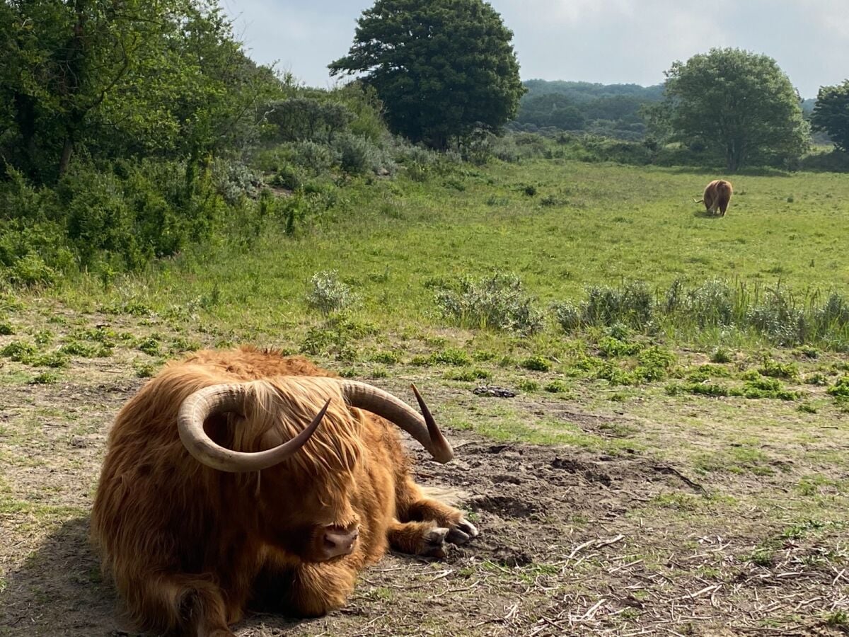
[[[430,409],[424,404],[419,390],[413,385],[413,392],[424,418],[413,411],[407,403],[378,387],[357,381],[339,381],[342,395],[351,407],[365,409],[373,414],[394,422],[407,431],[430,452],[437,462],[446,463],[454,457],[451,444],[442,436],[436,421],[430,415]]]

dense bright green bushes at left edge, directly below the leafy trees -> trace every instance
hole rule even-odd
[[[173,161],[76,162],[55,188],[31,186],[9,169],[0,192],[0,263],[9,280],[27,285],[75,265],[141,268],[209,236],[228,207],[208,168],[193,178]]]

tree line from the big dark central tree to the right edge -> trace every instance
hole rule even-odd
[[[811,127],[841,149],[849,143],[849,82],[823,87],[809,122],[775,60],[735,48],[673,63],[662,87],[642,89],[655,91],[650,97],[576,99],[564,82],[563,90],[528,94],[519,110],[527,86],[511,38],[481,0],[377,0],[358,21],[350,53],[329,66],[334,74],[360,74],[383,100],[393,130],[437,149],[475,128],[497,131],[517,111],[520,124],[537,127],[585,130],[602,121],[624,138],[648,128],[654,143],[704,149],[730,172],[791,165],[807,150]]]

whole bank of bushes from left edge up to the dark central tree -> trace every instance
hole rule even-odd
[[[340,183],[389,176],[416,155],[391,138],[380,104],[353,85],[281,87],[256,144],[214,158],[76,155],[56,183],[12,166],[0,174],[0,279],[48,285],[73,268],[121,273],[228,234],[246,245],[268,219],[286,233],[335,205]],[[432,161],[435,155],[428,155]],[[293,191],[274,200],[266,183]]]

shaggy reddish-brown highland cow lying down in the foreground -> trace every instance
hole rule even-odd
[[[475,537],[410,476],[391,423],[438,461],[453,456],[416,397],[424,418],[305,358],[250,348],[166,366],[115,420],[92,515],[133,619],[224,637],[251,605],[321,615],[389,547],[442,557]]]

